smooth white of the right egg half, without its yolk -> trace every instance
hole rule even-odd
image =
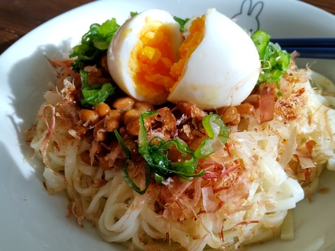
[[[260,59],[250,36],[214,8],[207,10],[204,36],[186,62],[168,100],[202,109],[239,105],[253,90]]]

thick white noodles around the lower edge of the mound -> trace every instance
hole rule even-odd
[[[275,118],[265,126],[251,118],[246,130],[230,133],[230,151],[244,165],[239,176],[227,175],[227,181],[244,187],[232,185],[229,189],[215,192],[216,199],[223,206],[213,213],[204,212],[205,208],[210,208],[207,203],[211,202],[206,201],[206,195],[210,192],[214,195],[211,188],[200,187],[200,178],[181,184],[179,193],[174,195],[176,198],[184,196],[183,192],[193,188],[192,185],[194,190],[201,191],[194,195],[197,198],[193,201],[185,200],[194,218],[180,221],[165,218],[161,212],[156,213],[155,201],[149,192],[138,195],[125,183],[121,167],[106,171],[82,162],[80,153],[89,150],[90,144],[68,137],[68,129],[57,127],[57,123],[57,132],[50,136],[43,119],[43,107],[31,147],[38,153],[47,146],[43,155],[47,158],[43,174],[47,189],[50,192],[66,189],[73,203],[70,205],[72,213],[94,222],[105,241],[128,241],[141,250],[173,250],[180,247],[186,250],[234,249],[240,244],[265,241],[280,235],[288,211],[303,199],[301,185],[285,172],[297,146],[313,139],[316,142],[313,160],[335,170],[335,112],[322,107],[318,98],[313,98],[308,84],[297,83],[294,88],[295,91],[305,88],[303,95],[308,100],[308,106],[299,109],[299,119],[283,126],[283,121]],[[48,93],[50,95],[52,100],[61,100]],[[52,102],[51,105],[56,104]],[[49,140],[47,144],[45,139]],[[220,153],[226,157],[227,153],[221,149],[214,158],[219,160]],[[317,175],[311,180],[310,191],[317,189],[322,168],[313,169]],[[101,180],[107,183],[96,185],[95,182]],[[191,185],[191,182],[194,183]],[[288,225],[284,238],[292,236],[292,220],[289,217]]]

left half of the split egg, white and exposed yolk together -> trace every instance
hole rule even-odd
[[[181,42],[179,24],[170,13],[158,9],[138,13],[110,43],[110,75],[129,96],[161,105],[175,83],[170,68],[179,59]]]

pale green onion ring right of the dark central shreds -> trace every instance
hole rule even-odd
[[[206,158],[214,153],[213,144],[217,138],[221,144],[225,144],[229,137],[229,128],[218,114],[209,114],[202,119],[202,126],[206,130],[208,138],[204,139],[198,149],[195,150],[196,158]]]

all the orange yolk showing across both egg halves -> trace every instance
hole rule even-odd
[[[135,90],[142,96],[167,96],[181,77],[186,61],[203,38],[204,16],[195,19],[190,34],[179,48],[180,59],[176,58],[168,26],[158,22],[144,27],[141,43],[131,52],[130,67],[134,73]]]

